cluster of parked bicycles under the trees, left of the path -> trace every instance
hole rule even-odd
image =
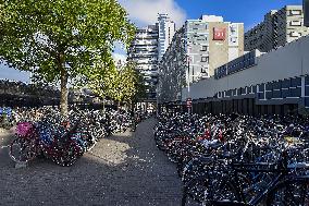
[[[16,113],[16,134],[9,154],[18,163],[45,157],[60,166],[72,166],[100,138],[124,132],[132,124],[128,112],[111,109],[72,109],[67,117],[49,107],[18,109]]]

